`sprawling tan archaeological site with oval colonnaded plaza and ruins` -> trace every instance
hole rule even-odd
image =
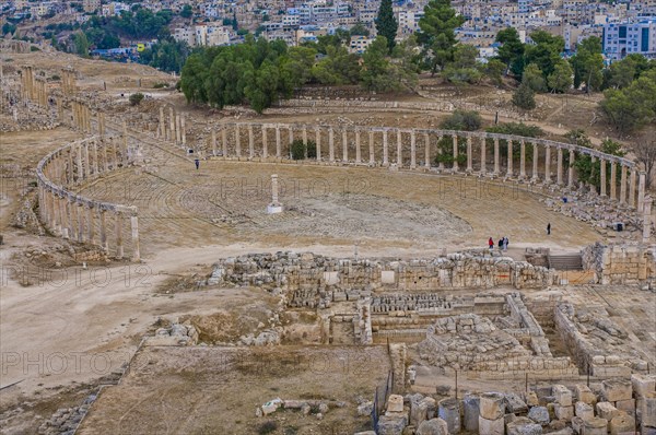
[[[0,128],[21,158],[38,155],[2,192],[16,203],[2,327],[32,331],[25,313],[51,310],[44,329],[60,341],[3,345],[4,423],[656,434],[656,213],[631,154],[443,130],[419,118],[453,110],[438,101],[377,102],[389,118],[373,121],[363,102],[343,121],[321,99],[208,114],[174,86],[140,87],[164,73],[112,82],[85,69],[95,61],[48,69],[11,45]],[[25,150],[21,134],[37,132],[52,143]],[[583,157],[599,163],[598,189],[579,180]],[[12,158],[3,179],[22,174]],[[24,286],[38,309],[21,305],[24,282],[39,283]],[[94,365],[50,377],[46,362],[68,352]],[[93,390],[24,423],[16,403],[44,383]]]

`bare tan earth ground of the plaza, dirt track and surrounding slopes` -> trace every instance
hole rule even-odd
[[[8,58],[13,61],[7,62]],[[226,113],[213,110],[210,115],[204,109],[190,108],[180,94],[147,89],[175,80],[142,66],[82,60],[59,52],[2,55],[2,60],[8,66],[30,62],[37,69],[46,68],[50,75],[72,64],[80,71],[82,90],[101,92],[105,83],[108,94],[124,93],[124,99],[137,91],[141,79],[141,91],[149,96],[173,103],[200,119],[210,122],[236,119]],[[489,89],[489,94],[495,97],[497,92]],[[476,101],[485,95],[458,97]],[[424,101],[419,96],[408,99],[413,98]],[[509,93],[503,94],[503,98],[509,98]],[[559,96],[540,96],[541,120],[536,122],[550,134],[585,126],[599,142],[609,132],[598,125],[587,127],[594,118],[595,98],[598,96],[573,96],[564,105]],[[436,127],[445,115],[291,114],[274,109],[256,118],[298,122],[338,122],[345,118],[368,125]],[[488,122],[493,116],[483,114]],[[352,256],[354,243],[359,243],[361,256],[423,257],[440,254],[443,248],[485,246],[488,237],[506,235],[511,238],[511,255],[523,258],[526,246],[577,250],[599,238],[587,224],[547,211],[535,195],[503,185],[481,189],[459,184],[464,178],[384,169],[219,161],[203,162],[201,171],[195,173],[187,160],[159,157],[155,174],[126,169],[83,190],[98,199],[121,200],[140,208],[144,262],[50,270],[50,266],[43,268],[34,257],[25,260],[24,252],[66,244],[9,225],[20,205],[20,190],[34,181],[31,171],[38,160],[78,137],[65,128],[0,136],[4,171],[15,168],[23,174],[15,179],[1,178],[0,232],[5,242],[0,251],[0,432],[3,434],[35,433],[40,421],[58,408],[80,404],[103,378],[120,371],[132,357],[142,336],[157,318],[175,320],[185,315],[214,315],[222,309],[239,313],[239,306],[257,313],[271,309],[272,302],[266,295],[248,289],[166,293],[172,278],[189,270],[203,270],[221,257],[281,249]],[[289,186],[281,200],[290,211],[282,215],[263,213],[270,201],[269,190],[258,187],[258,183],[263,186],[271,174],[279,174]],[[549,238],[544,234],[548,222],[553,228]],[[19,273],[14,274],[16,268]],[[40,285],[23,285],[20,277],[25,269],[21,268],[27,268],[30,274],[43,273]],[[596,297],[594,289],[572,290],[572,296],[575,295]],[[604,294],[609,305],[623,309],[618,311],[620,320],[635,319],[637,325],[632,327],[646,329],[654,339],[656,333],[653,327],[649,329],[654,310],[648,307],[655,302],[641,304],[640,296],[632,296],[631,302],[622,299],[623,296]],[[640,309],[643,313],[636,311]],[[235,327],[242,333],[239,325]],[[340,348],[342,353],[335,350],[332,346],[326,354],[321,353],[324,348],[313,346],[257,350],[263,352],[263,361],[271,361],[273,371],[266,372],[270,368],[266,365],[256,367],[265,371],[265,376],[261,383],[253,383],[248,366],[215,369],[216,361],[219,364],[225,361],[221,355],[232,350],[151,348],[138,354],[137,367],[153,369],[131,372],[122,389],[105,389],[97,409],[94,408],[97,413],[85,421],[83,433],[212,433],[216,426],[225,427],[224,433],[253,433],[256,424],[262,422],[255,419],[256,405],[278,396],[303,398],[314,390],[321,398],[347,401],[350,407],[331,409],[324,421],[303,420],[284,412],[276,415],[280,433],[292,426],[298,433],[352,433],[367,423],[367,419],[353,415],[355,396],[371,397],[380,376],[387,374],[388,357],[379,348],[355,351]],[[305,358],[321,354],[331,364],[337,363],[335,357],[339,355],[355,361],[361,352],[366,352],[372,363],[365,374],[358,372],[358,376],[340,369],[318,375],[303,367],[297,373],[281,371],[277,364],[284,361],[288,351]],[[14,383],[19,384],[11,386]],[[145,426],[144,422],[151,425]]]

